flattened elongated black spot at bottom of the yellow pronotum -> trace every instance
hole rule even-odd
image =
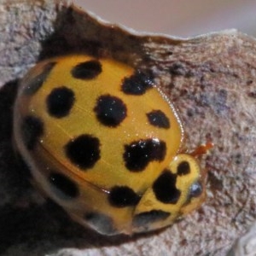
[[[163,221],[171,215],[170,212],[161,210],[152,210],[150,212],[141,212],[134,216],[132,224],[137,227],[147,227],[148,225]]]

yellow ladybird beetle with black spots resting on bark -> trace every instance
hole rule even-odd
[[[201,206],[205,175],[183,138],[152,73],[112,59],[42,61],[15,102],[15,148],[33,183],[105,235],[160,229]]]

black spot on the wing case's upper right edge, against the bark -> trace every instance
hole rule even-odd
[[[153,76],[151,73],[137,71],[130,78],[125,78],[122,91],[128,95],[143,95],[153,87]]]

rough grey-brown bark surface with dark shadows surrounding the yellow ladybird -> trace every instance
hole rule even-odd
[[[171,228],[99,236],[32,188],[11,145],[17,82],[38,59],[109,55],[150,68],[179,108],[188,148],[212,140],[207,202]],[[236,31],[180,40],[104,25],[64,1],[0,1],[0,255],[226,255],[256,211],[256,41]],[[230,255],[235,255],[230,253]]]

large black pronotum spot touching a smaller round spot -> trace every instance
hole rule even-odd
[[[176,204],[181,191],[176,188],[177,175],[165,170],[153,184],[154,195],[157,200],[166,204]]]

